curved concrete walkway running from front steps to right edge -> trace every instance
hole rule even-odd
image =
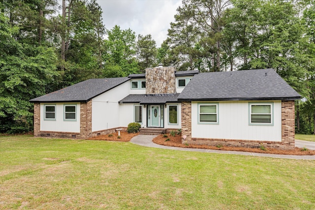
[[[163,145],[158,145],[158,144],[153,143],[152,140],[155,137],[157,137],[157,135],[139,134],[133,137],[130,140],[130,142],[136,145],[144,146],[144,147],[159,148],[159,149],[166,149],[166,150],[199,151],[199,152],[210,152],[210,153],[221,153],[221,154],[241,154],[241,155],[249,155],[249,156],[259,156],[259,157],[287,158],[287,159],[297,159],[297,160],[315,160],[315,155],[265,154],[265,153],[245,152],[245,151],[224,151],[224,150],[168,147],[168,146],[163,146]]]

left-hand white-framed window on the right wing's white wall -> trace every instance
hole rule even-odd
[[[219,103],[198,103],[198,124],[219,124]]]

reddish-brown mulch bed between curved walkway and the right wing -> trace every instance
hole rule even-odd
[[[306,150],[302,151],[301,148],[295,148],[294,150],[276,150],[269,149],[261,150],[259,148],[241,148],[241,147],[226,147],[222,146],[217,148],[215,146],[207,145],[185,145],[182,144],[182,137],[176,135],[175,137],[167,135],[163,137],[164,134],[158,135],[158,137],[153,139],[153,142],[159,145],[169,146],[169,147],[180,147],[180,148],[198,148],[198,149],[207,149],[207,150],[228,150],[228,151],[247,151],[247,152],[257,152],[257,153],[269,153],[269,154],[289,154],[289,155],[315,155],[315,150]],[[169,140],[168,140],[169,139]],[[168,140],[168,141],[166,141]]]

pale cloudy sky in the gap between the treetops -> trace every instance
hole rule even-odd
[[[170,22],[182,0],[96,0],[103,11],[103,24],[111,30],[115,25],[138,34],[151,34],[157,47],[167,37]]]

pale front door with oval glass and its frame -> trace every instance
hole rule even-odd
[[[147,106],[148,127],[164,127],[164,105]]]

